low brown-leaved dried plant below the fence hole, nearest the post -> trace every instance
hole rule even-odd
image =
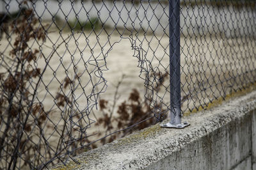
[[[153,88],[156,92],[159,92],[161,87],[163,87],[164,81],[168,77],[168,73],[152,73],[150,77],[157,79],[157,83]],[[104,132],[98,133],[98,136],[102,137],[100,140],[101,144],[110,143],[116,138],[124,137],[127,134],[149,127],[150,125],[154,125],[157,121],[163,121],[166,118],[166,114],[159,114],[159,116],[157,116],[157,121],[154,118],[150,118],[150,116],[154,114],[154,108],[157,107],[162,111],[164,111],[164,109],[161,103],[154,104],[154,107],[152,107],[150,105],[152,101],[148,100],[150,97],[141,97],[141,94],[136,88],[132,89],[129,97],[124,100],[124,102],[116,106],[117,100],[120,98],[120,95],[118,95],[118,89],[122,84],[123,79],[124,75],[116,85],[116,91],[112,102],[105,99],[99,100],[99,107],[100,112],[102,112],[102,116],[97,118],[96,125],[104,129]],[[115,110],[116,107],[117,110]],[[116,114],[114,114],[115,111]],[[111,132],[118,130],[122,131],[110,135],[108,138],[104,137],[111,134]]]

